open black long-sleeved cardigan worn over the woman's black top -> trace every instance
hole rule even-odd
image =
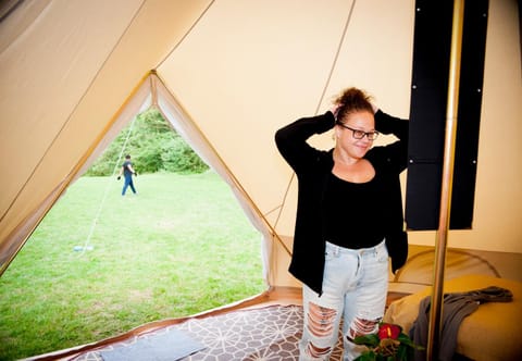
[[[314,134],[332,129],[332,112],[300,119],[275,134],[275,142],[283,158],[298,178],[298,203],[294,232],[293,257],[289,272],[318,294],[322,294],[325,239],[321,224],[321,203],[326,179],[334,167],[333,149],[325,151],[311,147],[307,140]],[[375,172],[387,178],[388,201],[393,211],[386,223],[386,247],[391,269],[397,271],[408,258],[408,237],[403,231],[402,198],[399,174],[407,166],[409,122],[393,117],[381,110],[375,114],[375,129],[394,134],[399,140],[373,147],[365,154]]]

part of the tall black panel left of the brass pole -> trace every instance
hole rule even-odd
[[[415,2],[406,223],[437,229],[452,1]]]

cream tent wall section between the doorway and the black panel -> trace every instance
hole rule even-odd
[[[293,176],[275,149],[275,130],[325,111],[332,97],[349,85],[391,95],[378,100],[408,116],[412,4],[219,1],[176,55],[158,67],[275,228],[271,285],[297,285],[287,272],[296,185],[286,195]],[[332,139],[318,142],[328,146]]]

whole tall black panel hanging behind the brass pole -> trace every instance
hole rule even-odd
[[[473,221],[487,0],[467,1],[462,35],[450,228]],[[446,129],[453,2],[415,3],[406,222],[437,229]]]

